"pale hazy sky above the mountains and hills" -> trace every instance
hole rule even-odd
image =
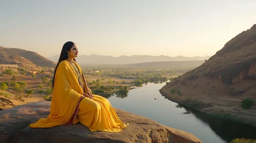
[[[256,23],[256,1],[0,0],[0,46],[58,55],[212,56]]]

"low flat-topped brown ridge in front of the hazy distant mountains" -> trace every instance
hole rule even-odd
[[[125,67],[149,67],[149,68],[195,68],[202,65],[205,61],[164,61],[164,62],[145,62],[127,64]]]

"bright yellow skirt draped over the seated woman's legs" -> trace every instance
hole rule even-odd
[[[78,107],[73,124],[82,123],[92,132],[120,132],[126,125],[121,122],[109,101],[101,96],[93,95],[93,100],[84,98]]]

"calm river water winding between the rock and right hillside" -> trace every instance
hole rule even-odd
[[[191,110],[161,96],[159,89],[166,83],[148,83],[132,89],[127,96],[108,98],[113,107],[148,117],[162,125],[192,133],[203,142],[230,142],[235,138],[256,138],[256,127],[223,120]]]

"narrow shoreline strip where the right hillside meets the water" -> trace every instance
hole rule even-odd
[[[162,88],[161,88],[161,89],[162,89]],[[200,112],[200,113],[203,113],[203,114],[206,114],[206,115],[209,115],[209,116],[218,117],[218,118],[221,118],[221,119],[223,119],[223,120],[228,120],[228,121],[231,121],[231,122],[235,122],[235,123],[238,123],[238,124],[245,124],[245,125],[248,125],[248,126],[251,126],[251,127],[256,127],[256,125],[254,125],[254,124],[249,124],[249,123],[244,122],[244,121],[243,121],[243,122],[242,122],[242,121],[239,121],[238,118],[234,118],[234,120],[232,120],[231,118],[218,116],[218,115],[216,115],[216,112],[209,113],[209,112],[206,112],[206,111],[204,111],[204,110],[200,110],[201,108],[200,108],[200,109],[192,108],[192,107],[190,107],[190,106],[188,106],[188,105],[186,105],[186,104],[184,104],[184,103],[182,103],[182,102],[180,102],[180,101],[176,101],[176,100],[174,100],[174,99],[171,99],[171,98],[168,96],[168,94],[162,93],[162,92],[161,92],[161,89],[159,89],[159,92],[160,92],[160,94],[161,94],[162,96],[164,96],[166,99],[168,99],[169,101],[175,102],[175,103],[177,103],[177,104],[180,104],[180,105],[182,105],[182,106],[185,106],[185,107],[187,107],[187,108],[189,108],[189,109],[191,109],[191,110],[198,111],[198,112]]]

